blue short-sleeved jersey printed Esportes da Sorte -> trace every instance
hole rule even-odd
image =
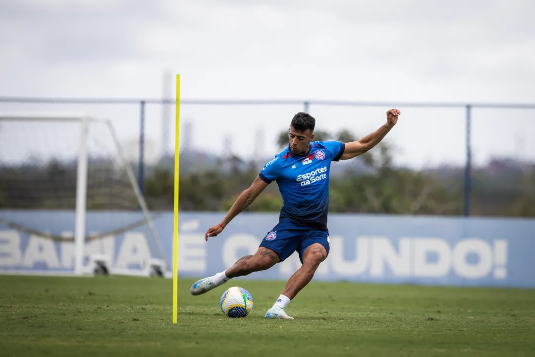
[[[315,141],[307,155],[297,156],[288,146],[264,165],[260,178],[268,184],[277,181],[284,200],[280,221],[327,229],[331,162],[338,161],[344,149],[338,141]]]

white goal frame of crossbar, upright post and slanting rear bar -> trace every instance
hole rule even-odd
[[[119,144],[117,133],[108,119],[99,119],[86,115],[85,113],[0,113],[0,123],[2,121],[66,121],[70,123],[80,123],[80,142],[77,155],[77,184],[76,184],[76,208],[74,221],[74,274],[83,274],[83,249],[86,238],[86,199],[87,199],[87,139],[89,134],[90,123],[103,123],[108,126],[117,154],[119,156],[120,164],[128,174],[128,179],[134,189],[137,201],[140,204],[143,212],[143,217],[149,227],[149,230],[154,238],[156,247],[161,259],[166,263],[166,269],[169,269],[169,262],[165,258],[162,242],[158,236],[158,231],[152,221],[147,202],[139,189],[134,172],[131,166],[126,161],[123,149]]]

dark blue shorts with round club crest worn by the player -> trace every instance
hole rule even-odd
[[[328,255],[330,249],[328,230],[298,226],[284,220],[266,234],[260,247],[270,248],[277,252],[281,262],[297,252],[302,263],[304,251],[314,243],[321,244],[327,250]]]

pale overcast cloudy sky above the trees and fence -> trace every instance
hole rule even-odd
[[[535,103],[534,13],[531,0],[2,0],[0,96],[157,98],[170,70],[181,74],[185,99]],[[243,117],[221,132],[243,132],[255,109],[227,109],[228,117],[233,110]],[[282,116],[275,128],[266,126],[269,116],[252,115],[262,118],[265,154],[301,109],[272,110]],[[387,109],[342,116],[370,116],[356,127],[363,135],[383,123]],[[410,123],[391,135],[404,148],[400,162],[462,162],[463,110],[448,128],[453,112],[399,109]],[[201,126],[220,119],[213,110],[185,113]],[[338,115],[319,107],[311,113],[324,125]],[[535,159],[533,114],[475,111],[476,158],[521,150]],[[352,125],[337,118],[333,131]],[[233,139],[236,151],[250,146]]]

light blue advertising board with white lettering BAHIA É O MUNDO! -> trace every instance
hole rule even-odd
[[[172,263],[173,214],[156,215],[155,226]],[[204,241],[208,227],[223,213],[180,212],[178,272],[204,277],[254,254],[277,214],[243,212],[218,237]],[[74,212],[0,210],[0,272],[72,274],[74,243],[40,236],[72,236]],[[88,212],[87,234],[108,232],[140,221],[139,212]],[[316,280],[368,283],[535,287],[535,220],[459,217],[331,214],[331,250]],[[146,225],[86,242],[86,270],[91,254],[110,257],[112,271],[145,274],[158,249]],[[171,265],[170,265],[171,266]],[[293,254],[250,278],[287,279],[299,269]]]

